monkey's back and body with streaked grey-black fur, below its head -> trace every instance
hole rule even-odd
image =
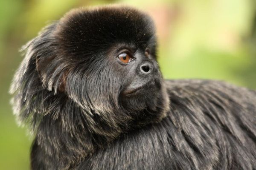
[[[170,111],[162,122],[123,134],[73,169],[255,169],[255,91],[199,79],[166,80],[166,87]],[[57,162],[36,154],[34,169],[55,169]]]

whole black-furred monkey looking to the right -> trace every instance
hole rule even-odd
[[[256,169],[256,91],[164,79],[143,11],[73,9],[23,53],[10,93],[32,170]]]

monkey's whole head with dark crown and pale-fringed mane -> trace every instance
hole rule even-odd
[[[15,113],[38,131],[58,124],[110,139],[158,122],[169,100],[156,48],[151,18],[134,8],[72,10],[24,48],[11,88]]]

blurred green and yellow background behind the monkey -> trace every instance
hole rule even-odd
[[[129,4],[148,12],[165,78],[221,79],[256,89],[255,0],[0,0],[0,170],[28,170],[32,137],[18,127],[9,85],[18,49],[79,6]]]

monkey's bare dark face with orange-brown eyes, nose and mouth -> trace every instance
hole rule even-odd
[[[119,105],[129,111],[154,108],[157,97],[162,95],[162,76],[155,57],[154,39],[149,39],[142,47],[117,45],[111,56],[116,62],[119,82]]]

